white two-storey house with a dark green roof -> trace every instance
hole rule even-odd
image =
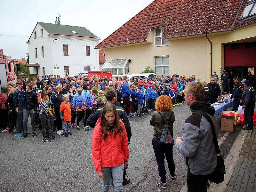
[[[63,77],[99,71],[99,50],[94,49],[99,40],[84,27],[37,22],[27,42],[29,73]]]

